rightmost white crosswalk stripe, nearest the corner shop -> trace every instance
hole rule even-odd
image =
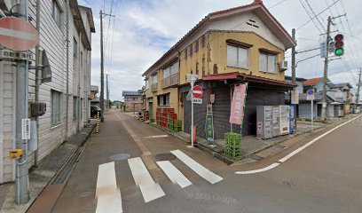
[[[214,172],[206,169],[200,163],[195,162],[191,157],[187,156],[180,150],[171,151],[172,154],[175,154],[181,162],[184,162],[191,170],[196,172],[198,175],[209,181],[211,184],[216,184],[217,182],[223,180],[223,177],[216,175]]]

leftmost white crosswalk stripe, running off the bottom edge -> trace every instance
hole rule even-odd
[[[114,162],[98,166],[96,199],[96,213],[122,212],[122,196],[115,180]]]

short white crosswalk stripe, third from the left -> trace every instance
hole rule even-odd
[[[188,180],[181,171],[177,170],[177,168],[172,165],[171,162],[165,161],[165,162],[157,162],[157,164],[161,167],[161,169],[166,173],[166,175],[169,177],[169,179],[178,185],[181,186],[181,188],[185,188],[188,185],[192,185],[190,180]]]

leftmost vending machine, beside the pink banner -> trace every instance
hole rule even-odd
[[[256,106],[256,137],[272,138],[271,106]]]

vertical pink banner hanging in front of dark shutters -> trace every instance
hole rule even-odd
[[[241,84],[234,87],[234,93],[232,95],[232,108],[230,111],[230,123],[241,125],[241,121],[244,118],[244,104],[245,93],[247,91],[247,85]]]

